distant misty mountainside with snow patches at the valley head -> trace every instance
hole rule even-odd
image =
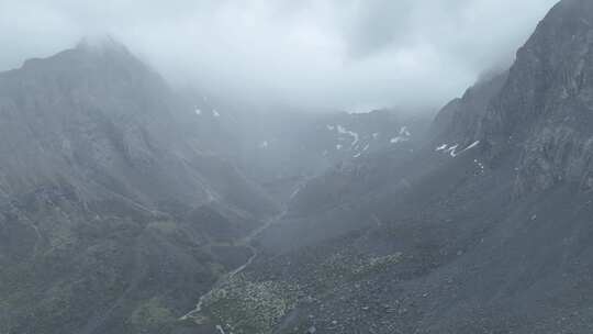
[[[365,160],[417,143],[427,112],[376,110],[368,113],[259,107],[190,92],[194,135],[240,169],[272,197],[289,201],[294,190],[328,168]]]

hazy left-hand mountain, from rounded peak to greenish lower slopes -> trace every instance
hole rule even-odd
[[[165,333],[279,208],[107,41],[0,74],[0,332]]]

